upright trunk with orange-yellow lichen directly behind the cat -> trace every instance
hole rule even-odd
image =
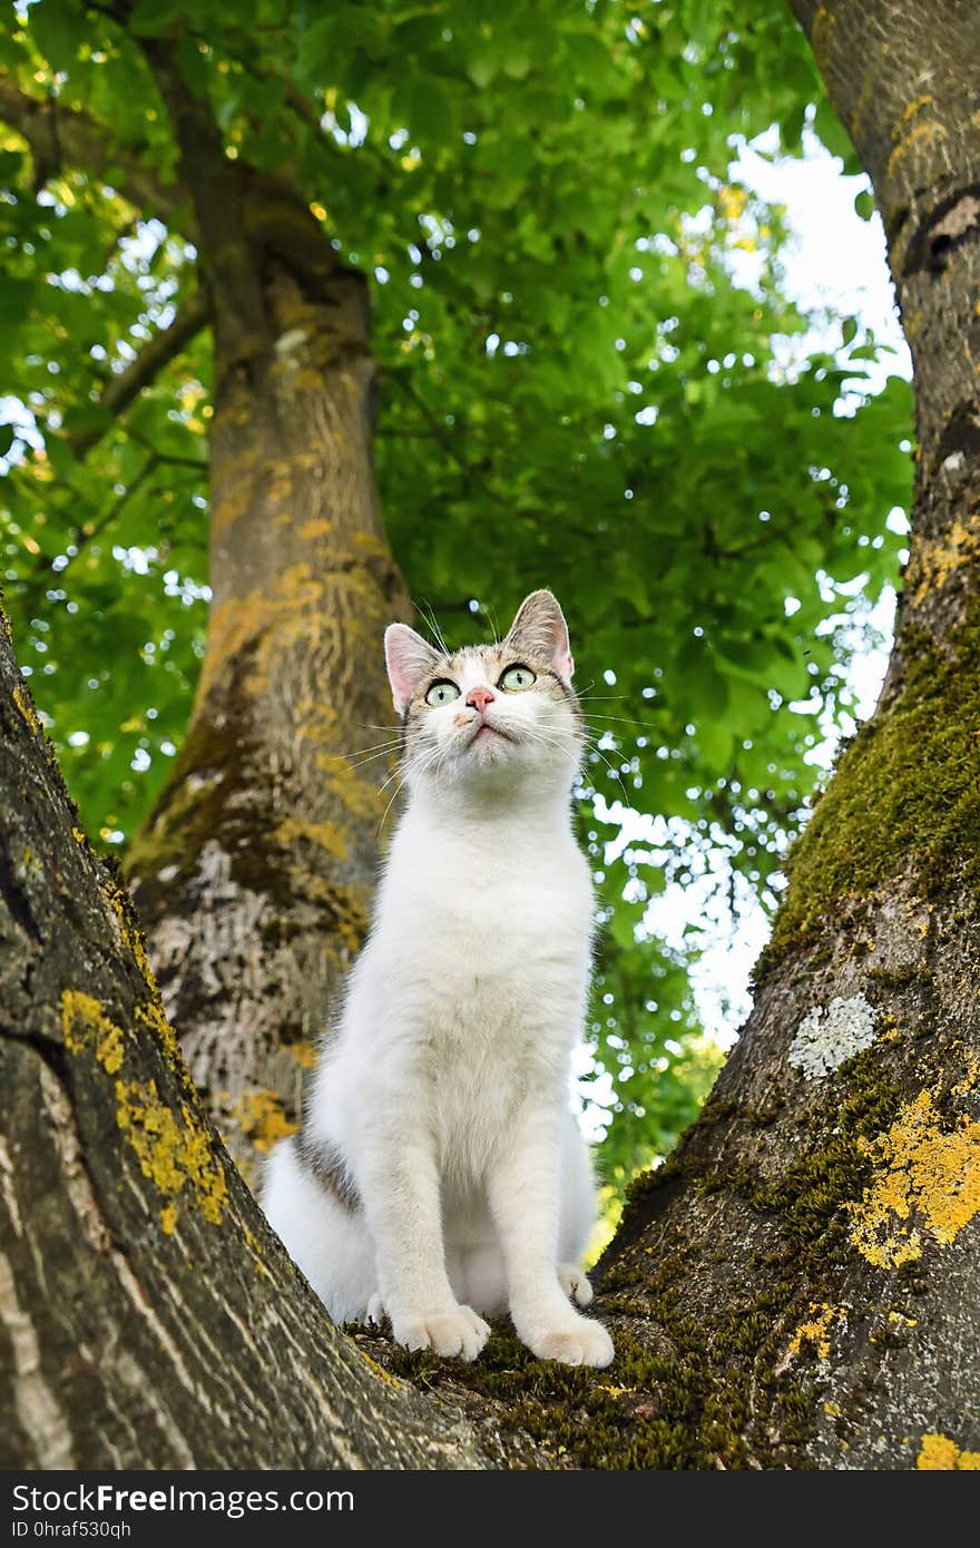
[[[211,624],[187,740],[127,859],[164,1005],[246,1175],[296,1124],[361,944],[410,604],[372,472],[367,288],[299,197],[229,161],[147,45],[212,300]],[[384,774],[382,774],[384,777]]]

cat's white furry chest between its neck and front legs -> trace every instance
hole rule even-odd
[[[528,1091],[560,1088],[581,1034],[588,868],[570,836],[508,837],[406,845],[376,941],[413,1008],[399,1057],[444,1153],[492,1144]]]

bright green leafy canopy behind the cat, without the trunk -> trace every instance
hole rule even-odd
[[[811,102],[852,155],[788,9],[36,0],[17,19],[0,70],[62,153],[33,158],[0,113],[0,563],[88,830],[122,845],[146,814],[206,630],[209,339],[125,413],[99,406],[197,289],[141,48],[167,34],[226,153],[290,176],[370,277],[378,478],[420,607],[464,639],[534,585],[565,605],[595,734],[593,1079],[608,1172],[632,1170],[715,1063],[698,932],[669,949],[649,901],[718,858],[773,901],[807,754],[847,703],[844,598],[895,580],[886,517],[909,495],[907,385],[861,395],[876,345],[848,319],[841,351],[794,358],[780,212],[731,181],[735,136],[776,122],[796,150]],[[63,149],[74,111],[98,156]]]

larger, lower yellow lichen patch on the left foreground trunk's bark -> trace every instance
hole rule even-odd
[[[184,1198],[218,1226],[228,1178],[211,1136],[186,1104],[161,1101],[156,1081],[116,1081],[116,1122],[136,1152],[139,1170],[166,1197]]]

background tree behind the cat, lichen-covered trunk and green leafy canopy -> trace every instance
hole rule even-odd
[[[33,446],[9,605],[246,1169],[296,1119],[364,929],[393,794],[376,642],[409,616],[392,554],[457,638],[547,580],[590,676],[615,672],[585,684],[579,803],[613,1178],[714,1073],[686,963],[638,924],[712,850],[765,893],[841,701],[838,582],[893,574],[907,494],[906,384],[833,415],[873,341],[852,324],[847,367],[779,364],[804,319],[729,139],[776,116],[799,142],[816,85],[782,5],[738,15],[229,0],[204,26],[42,0],[2,45],[0,322]],[[656,814],[629,847],[621,802]]]

